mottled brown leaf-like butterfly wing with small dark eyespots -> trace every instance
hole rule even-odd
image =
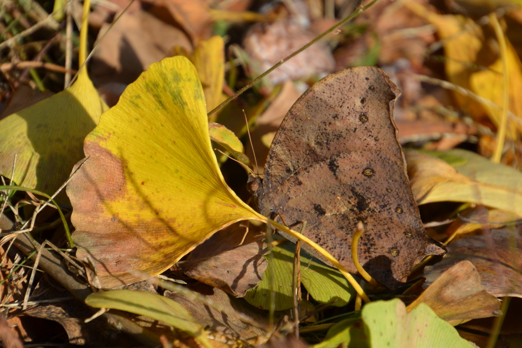
[[[444,252],[422,227],[397,137],[400,95],[384,72],[363,66],[329,75],[294,103],[265,166],[260,212],[304,234],[356,273],[351,241],[365,233],[358,256],[390,288],[428,254]],[[314,253],[316,254],[316,253]]]

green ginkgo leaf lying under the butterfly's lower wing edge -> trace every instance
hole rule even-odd
[[[265,256],[269,265],[263,280],[257,287],[246,292],[244,298],[248,303],[263,309],[270,308],[270,277],[273,277],[276,310],[293,307],[294,250],[295,245],[292,242],[284,242],[272,248],[272,256]],[[355,294],[354,289],[338,270],[328,267],[304,250],[301,250],[301,283],[310,295],[322,304],[335,300],[333,306],[346,306]]]

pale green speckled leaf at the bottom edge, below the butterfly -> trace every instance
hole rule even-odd
[[[372,348],[473,347],[426,304],[420,304],[408,313],[398,298],[375,301],[363,307],[361,317]]]

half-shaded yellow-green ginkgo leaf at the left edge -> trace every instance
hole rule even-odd
[[[83,69],[69,88],[0,121],[0,174],[53,194],[84,157],[84,138],[108,107]],[[66,201],[65,193],[57,196]]]

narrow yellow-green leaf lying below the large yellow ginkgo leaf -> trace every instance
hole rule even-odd
[[[85,303],[94,308],[125,310],[162,321],[195,337],[206,347],[213,348],[200,324],[182,305],[170,298],[146,291],[113,290],[90,294]]]

